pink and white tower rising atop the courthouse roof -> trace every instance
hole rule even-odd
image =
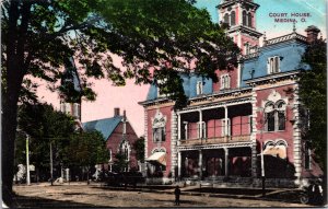
[[[256,31],[256,10],[254,0],[221,0],[216,7],[220,23],[226,23],[227,35],[242,49],[243,55],[255,53],[261,33]]]

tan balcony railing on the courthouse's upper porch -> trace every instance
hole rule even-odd
[[[203,139],[181,139],[181,146],[202,146],[202,144],[218,144],[218,143],[233,143],[249,141],[250,135],[241,136],[227,136],[227,137],[215,137],[215,138],[203,138]]]

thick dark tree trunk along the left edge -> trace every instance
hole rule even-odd
[[[12,185],[14,166],[14,143],[16,135],[17,102],[23,77],[28,68],[24,62],[26,53],[26,32],[28,27],[31,2],[10,1],[7,36],[7,65],[5,85],[2,97],[2,199],[8,206],[12,206]],[[21,20],[20,20],[21,16]],[[21,23],[19,27],[19,23]]]

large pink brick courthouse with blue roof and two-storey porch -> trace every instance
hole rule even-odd
[[[300,186],[323,174],[307,141],[307,112],[297,96],[297,74],[307,37],[292,33],[259,46],[253,0],[223,0],[219,19],[230,25],[227,35],[242,49],[239,65],[218,70],[219,82],[180,71],[189,105],[174,109],[156,85],[140,102],[144,107],[145,159],[149,182],[239,182],[259,186]],[[261,153],[263,164],[261,164]]]

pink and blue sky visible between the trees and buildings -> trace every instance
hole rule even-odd
[[[273,38],[292,32],[292,23],[274,23],[270,13],[309,13],[306,22],[296,19],[296,32],[305,35],[304,30],[308,25],[316,25],[323,32],[324,38],[327,37],[326,28],[326,0],[254,0],[260,4],[257,10],[257,31],[266,32],[267,38]],[[219,22],[216,5],[220,0],[197,0],[196,7],[209,11],[213,22]],[[144,109],[138,102],[144,101],[148,94],[149,85],[134,85],[133,81],[127,81],[126,86],[114,86],[107,80],[94,81],[93,90],[97,94],[95,102],[82,102],[82,123],[113,117],[114,108],[119,107],[120,113],[127,112],[128,120],[140,137],[144,132]],[[59,109],[58,93],[47,91],[46,84],[40,84],[38,95],[43,102],[48,102]]]

